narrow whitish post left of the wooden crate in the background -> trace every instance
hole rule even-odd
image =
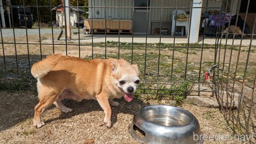
[[[64,0],[64,6],[65,6],[65,29],[67,32],[67,40],[71,40],[71,29],[70,29],[70,8],[69,8],[69,0]]]

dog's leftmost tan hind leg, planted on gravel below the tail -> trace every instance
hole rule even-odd
[[[35,115],[34,115],[34,121],[33,124],[36,127],[41,127],[45,123],[42,121],[42,113],[43,111],[50,106],[50,104],[53,104],[54,101],[57,99],[59,93],[56,93],[52,91],[52,93],[39,93],[40,101],[35,106]]]

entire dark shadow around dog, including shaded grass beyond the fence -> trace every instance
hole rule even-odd
[[[42,58],[45,58],[45,55]],[[39,60],[41,60],[40,55],[30,55],[30,64],[27,55],[18,55],[17,58],[8,55],[0,56],[0,68],[2,69],[0,70],[0,132],[28,119],[31,119],[32,125],[34,107],[39,99],[36,93],[36,80],[29,73],[29,68]],[[19,89],[34,89],[34,91]],[[111,106],[111,125],[117,122],[119,113],[135,114],[140,108],[149,105],[136,98],[131,102],[126,102],[124,98],[115,99],[115,101],[118,101],[120,106]],[[61,113],[59,116],[48,120],[45,119],[43,113],[42,119],[46,120],[46,125],[81,113],[103,111],[96,100],[82,100],[81,102],[63,100],[62,103],[72,108],[73,111],[71,113]],[[52,104],[46,111],[53,108],[55,106]],[[103,120],[104,116],[102,116],[101,122],[96,123],[103,123]]]

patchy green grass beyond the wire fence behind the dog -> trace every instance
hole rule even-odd
[[[89,44],[89,43],[87,43]],[[213,59],[209,60],[203,60],[201,63],[201,72],[199,71],[200,67],[200,57],[191,60],[190,56],[193,55],[200,55],[201,54],[201,44],[145,44],[145,43],[118,43],[113,41],[107,41],[107,43],[94,43],[95,47],[98,47],[97,45],[100,45],[99,47],[102,48],[101,52],[94,53],[93,58],[105,58],[105,45],[107,46],[107,58],[123,58],[129,62],[137,63],[139,71],[141,73],[141,79],[142,82],[145,81],[145,83],[140,84],[138,92],[143,94],[157,94],[159,96],[158,99],[161,97],[167,97],[171,95],[172,92],[171,89],[184,89],[182,86],[183,82],[194,83],[198,82],[198,76],[200,74],[200,82],[205,82],[204,80],[204,72],[207,72],[208,69],[210,69],[214,65]],[[119,47],[120,45],[120,47]],[[147,47],[146,47],[147,46]],[[215,45],[209,45],[204,44],[204,50],[208,50],[209,48],[215,48]],[[187,50],[188,47],[188,50]],[[222,50],[225,49],[224,45],[219,46]],[[108,49],[111,48],[111,49]],[[120,48],[120,55],[118,55],[118,49]],[[227,51],[231,51],[232,46],[226,46]],[[65,46],[56,46],[55,49],[58,50],[66,50]],[[83,48],[81,48],[83,50]],[[133,54],[132,54],[132,49]],[[242,47],[241,53],[248,53],[249,48],[248,47]],[[35,55],[35,51],[33,50],[39,50],[39,49],[32,49],[30,51],[30,54]],[[44,51],[46,50],[46,51]],[[76,46],[69,47],[68,50],[78,50]],[[147,53],[145,53],[145,50],[147,50]],[[160,50],[160,56],[159,56],[159,50]],[[239,50],[239,46],[233,46],[233,51],[237,53]],[[46,49],[43,48],[43,53],[49,53],[49,51],[52,51],[52,49]],[[174,52],[174,55],[173,55]],[[255,47],[251,48],[251,56],[253,57],[255,55]],[[186,55],[188,53],[188,60],[186,65]],[[211,49],[210,54],[207,55],[214,55],[214,49]],[[218,51],[219,53],[219,51]],[[207,57],[203,56],[203,57]],[[35,55],[36,56],[36,55]],[[234,56],[233,56],[234,57]],[[27,59],[27,57],[20,57],[20,59]],[[34,57],[33,59],[38,59],[39,57]],[[84,58],[86,59],[92,59],[92,55],[87,55]],[[225,72],[227,70],[228,62],[229,62],[229,56],[226,56],[225,61]],[[145,62],[146,60],[146,62]],[[21,63],[21,65],[24,65],[24,62]],[[217,61],[216,61],[217,62]],[[7,74],[8,75],[19,75],[21,77],[16,78],[15,80],[11,78],[5,78],[5,71],[3,69],[0,71],[2,85],[0,85],[0,89],[10,88],[10,89],[22,89],[22,88],[30,88],[35,87],[35,79],[34,78],[28,78],[28,77],[22,77],[22,76],[30,76],[29,69],[24,67],[19,67],[19,74],[17,74],[16,70],[16,62],[15,60],[9,60],[8,63],[6,63],[7,66]],[[222,59],[220,61],[219,68],[222,69]],[[229,72],[231,75],[234,75],[234,67],[235,62],[232,61],[231,64],[231,71]],[[245,61],[239,62],[238,64],[238,80],[242,80],[242,77],[244,76],[245,71]],[[27,65],[26,65],[27,66]],[[159,69],[158,69],[159,66]],[[250,61],[248,64],[247,69],[247,75],[246,75],[246,81],[248,84],[252,84],[254,80],[254,76],[256,75],[255,71],[256,62]],[[0,61],[0,67],[3,68],[3,61]],[[173,70],[173,71],[172,71]],[[186,77],[185,77],[185,70],[186,70]],[[216,70],[216,69],[215,69]],[[221,72],[220,72],[221,73]],[[219,78],[221,78],[221,75],[219,75]],[[4,82],[5,81],[5,82]],[[158,83],[157,83],[158,81]],[[177,85],[172,85],[171,88],[171,81],[172,83],[178,82]],[[222,82],[226,82],[225,77],[223,77]],[[3,85],[3,83],[7,85]],[[22,85],[23,84],[23,85]],[[24,84],[29,84],[24,85]],[[186,89],[186,88],[185,88]],[[181,90],[186,91],[186,90]],[[173,94],[174,95],[174,94]],[[157,97],[158,97],[157,96]],[[155,96],[153,96],[155,97]],[[175,96],[172,96],[172,98],[175,98]],[[176,97],[177,101],[182,101],[182,97]]]

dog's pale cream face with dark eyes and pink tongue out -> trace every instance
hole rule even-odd
[[[120,59],[119,61],[123,60]],[[119,66],[114,66],[112,71],[115,79],[114,85],[124,92],[126,101],[131,101],[139,84],[140,76],[137,64],[121,63]]]

